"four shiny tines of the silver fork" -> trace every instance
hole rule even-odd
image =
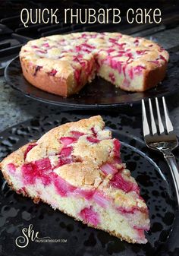
[[[163,103],[163,109],[164,109],[164,114],[165,114],[165,127],[166,127],[167,134],[169,134],[169,133],[171,133],[171,131],[174,131],[174,128],[173,128],[173,125],[171,124],[171,119],[169,118],[169,115],[168,115],[168,108],[166,106],[164,96],[162,97],[162,103]],[[159,109],[159,101],[157,98],[155,98],[155,106],[156,106],[156,112],[157,112],[157,117],[158,117],[159,134],[165,134],[165,128],[162,123],[161,112]],[[145,106],[144,100],[142,100],[142,112],[143,112],[143,135],[146,136],[151,133],[150,133],[150,129],[149,129],[149,122],[148,122],[147,116],[146,116],[146,106]],[[155,118],[153,115],[151,99],[149,99],[149,113],[150,113],[152,135],[156,135],[156,134],[158,134],[158,131],[157,131],[157,126],[155,124]]]

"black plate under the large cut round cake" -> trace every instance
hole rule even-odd
[[[116,89],[115,86],[102,78],[96,77],[91,83],[87,84],[80,93],[67,99],[55,96],[33,87],[24,78],[19,58],[14,58],[5,69],[5,78],[8,84],[24,95],[39,100],[44,103],[55,104],[58,106],[68,106],[75,109],[97,109],[118,107],[140,103],[141,99],[149,97],[164,96],[179,90],[179,55],[171,53],[168,64],[168,73],[165,80],[158,87],[147,90],[144,93],[127,93],[124,90]]]

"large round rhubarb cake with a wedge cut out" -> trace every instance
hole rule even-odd
[[[61,96],[80,91],[97,75],[127,91],[155,87],[165,77],[168,52],[121,33],[70,33],[31,40],[20,50],[30,84]]]

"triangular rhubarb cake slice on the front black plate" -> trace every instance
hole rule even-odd
[[[101,116],[53,128],[20,147],[0,167],[18,194],[132,243],[146,243],[149,213],[121,163],[120,142]]]

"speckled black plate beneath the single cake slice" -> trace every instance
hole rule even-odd
[[[84,118],[70,114],[57,114],[45,118],[33,119],[20,125],[8,128],[0,134],[0,157],[5,157],[28,141],[34,140],[64,122]],[[123,120],[125,122],[125,120]],[[115,137],[122,141],[122,159],[132,171],[132,175],[140,185],[141,195],[149,207],[151,229],[146,233],[149,242],[146,245],[132,245],[121,242],[106,232],[89,228],[73,220],[58,210],[52,210],[47,204],[33,204],[29,198],[16,194],[8,188],[4,179],[0,194],[0,254],[4,256],[46,256],[49,251],[53,256],[151,256],[160,255],[168,234],[172,230],[174,219],[174,193],[168,168],[160,156],[151,153],[137,137],[129,135],[123,126],[105,120],[113,130]],[[118,132],[120,130],[120,133]],[[155,162],[154,162],[155,161]],[[175,199],[175,198],[174,198]],[[67,239],[66,243],[37,243],[31,242],[26,248],[18,248],[15,239],[22,235],[22,229],[33,224],[33,230],[39,236],[49,236],[51,239]],[[23,241],[22,241],[23,242]],[[170,246],[170,245],[169,245]],[[165,248],[165,255],[170,248]],[[174,254],[175,255],[175,254]],[[176,254],[177,255],[177,254]]]

